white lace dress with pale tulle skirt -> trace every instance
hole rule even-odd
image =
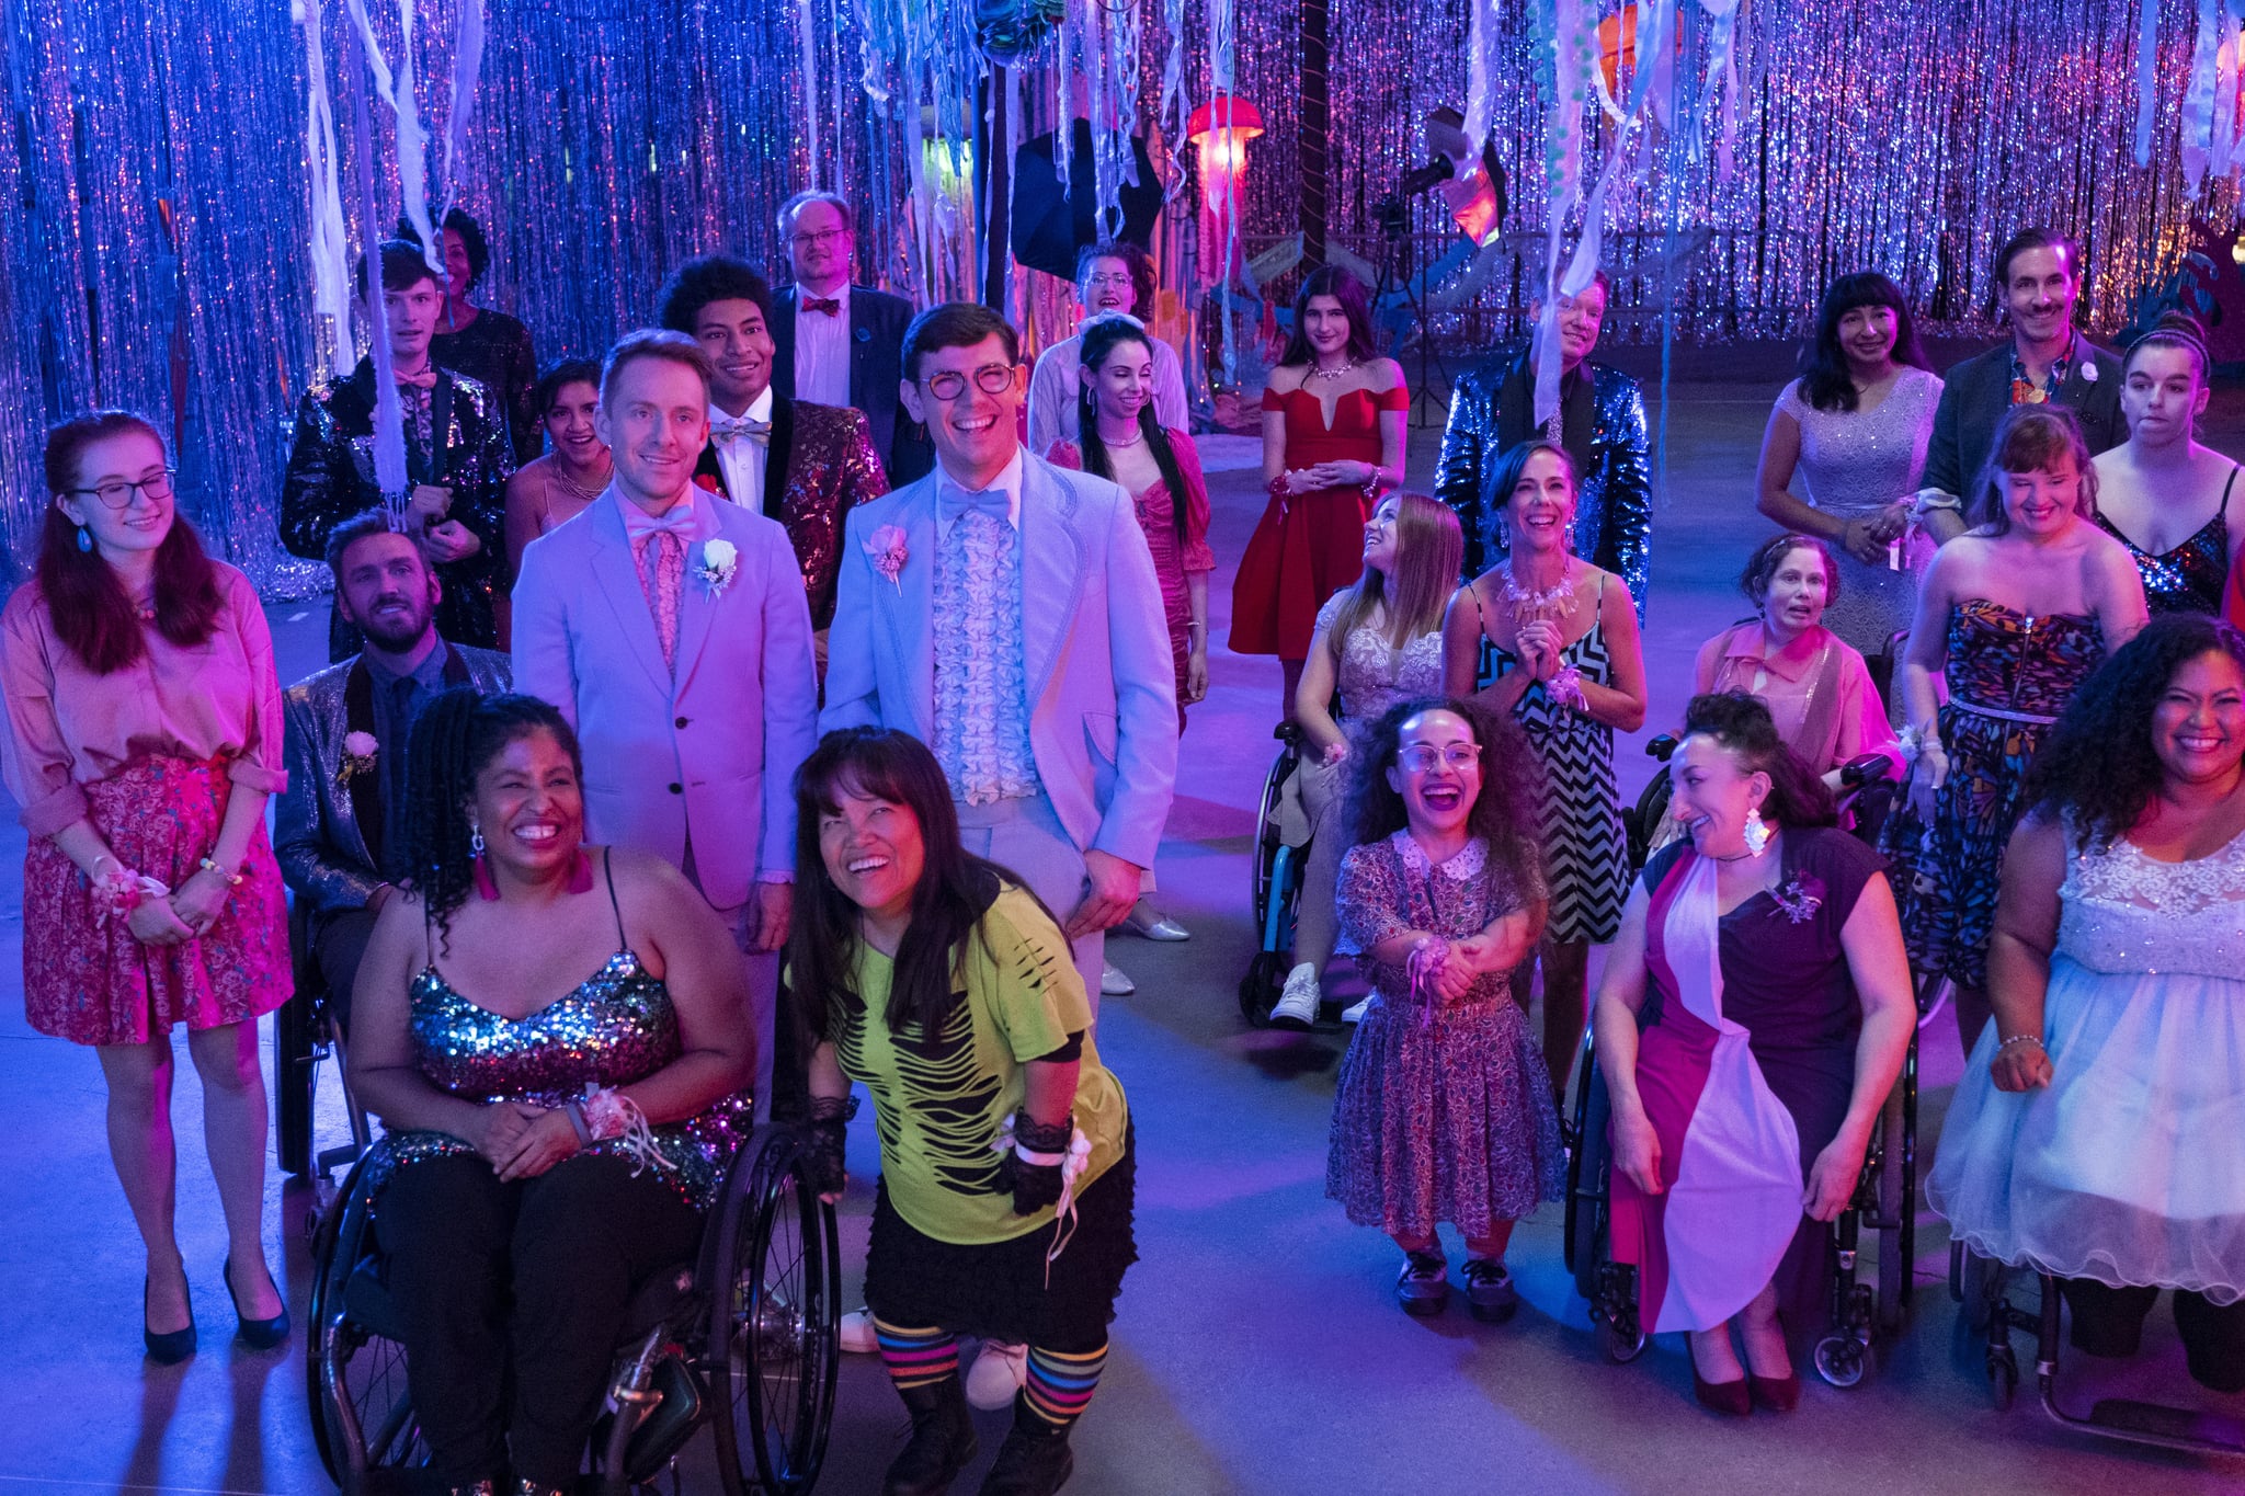
[[[2059,888],[2047,1090],[2000,1092],[1996,1025],[1926,1198],[1973,1252],[2110,1287],[2245,1296],[2245,834],[2162,864],[2077,852]]]

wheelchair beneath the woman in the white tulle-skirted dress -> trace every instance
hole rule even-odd
[[[2012,1303],[2014,1274],[2036,1281],[2038,1301],[2034,1308]],[[1949,1296],[1960,1305],[1958,1319],[1964,1332],[1982,1337],[1987,1391],[1998,1413],[2009,1411],[2018,1395],[2018,1355],[2012,1350],[2012,1330],[2032,1330],[2034,1382],[2043,1413],[2068,1429],[2184,1453],[2245,1456],[2245,1426],[2234,1417],[2135,1397],[2099,1397],[2088,1413],[2068,1409],[2059,1395],[2059,1357],[2065,1348],[2065,1337],[2059,1332],[2063,1299],[2056,1276],[2041,1267],[2007,1267],[1971,1252],[1960,1240],[1951,1240]]]

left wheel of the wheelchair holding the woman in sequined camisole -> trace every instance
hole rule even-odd
[[[406,1350],[393,1339],[395,1326],[384,1323],[386,1301],[373,1278],[373,1160],[368,1153],[352,1164],[343,1209],[326,1216],[312,1247],[305,1393],[319,1462],[346,1494],[364,1489],[368,1471],[429,1462],[406,1393]]]

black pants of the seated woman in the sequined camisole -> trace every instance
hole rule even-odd
[[[606,1395],[631,1294],[691,1263],[703,1216],[653,1171],[563,1160],[501,1182],[483,1157],[406,1164],[375,1236],[404,1323],[406,1386],[447,1485],[568,1487]],[[512,1388],[512,1406],[507,1400]]]

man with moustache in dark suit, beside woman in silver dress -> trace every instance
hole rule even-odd
[[[2081,247],[2052,229],[2020,229],[1996,251],[1996,287],[2012,341],[1951,368],[1933,413],[1917,514],[1935,541],[1973,523],[1973,487],[2012,406],[2068,406],[2092,455],[2128,437],[2119,419],[2119,354],[2074,330]]]

